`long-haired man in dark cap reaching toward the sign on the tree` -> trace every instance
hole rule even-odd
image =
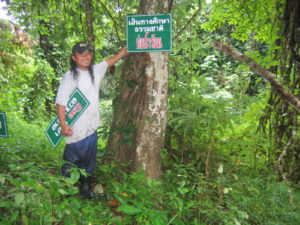
[[[99,88],[100,81],[105,75],[108,67],[113,66],[121,58],[127,55],[127,48],[111,58],[105,59],[99,64],[91,65],[93,51],[85,42],[79,42],[72,48],[70,58],[71,69],[66,72],[60,83],[55,100],[58,120],[63,136],[66,136],[66,147],[63,159],[65,163],[61,172],[69,177],[70,169],[74,164],[85,169],[89,176],[80,177],[80,192],[85,198],[93,198],[91,191],[90,176],[93,174],[97,154],[97,128],[100,125],[99,116]],[[66,123],[66,106],[71,93],[78,88],[88,99],[90,105],[79,117],[73,127]]]

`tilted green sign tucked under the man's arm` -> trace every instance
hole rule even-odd
[[[76,88],[71,94],[68,105],[66,107],[67,124],[69,124],[69,126],[72,126],[89,105],[90,102],[81,93],[81,91]],[[63,138],[57,116],[45,130],[45,133],[52,146],[55,148]]]

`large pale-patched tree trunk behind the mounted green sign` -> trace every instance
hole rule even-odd
[[[138,14],[168,10],[167,0],[141,0]],[[108,148],[127,171],[159,179],[167,121],[168,53],[131,53],[124,63]]]

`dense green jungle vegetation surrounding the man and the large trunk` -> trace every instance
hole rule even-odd
[[[118,52],[126,15],[152,1],[5,2],[14,20],[0,21],[0,111],[9,132],[0,138],[0,224],[300,224],[299,109],[213,47],[231,46],[299,97],[297,0],[167,1],[173,50],[161,177],[124,172],[107,151],[120,62],[101,84],[95,200],[78,195],[80,170],[60,175],[64,143],[53,149],[44,130],[72,45],[94,37],[96,61]]]

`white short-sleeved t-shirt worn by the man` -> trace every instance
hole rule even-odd
[[[77,80],[74,80],[71,71],[64,74],[57,91],[55,104],[66,107],[69,97],[76,87],[78,87],[78,89],[90,102],[88,108],[78,118],[75,124],[73,124],[73,135],[66,137],[67,144],[78,142],[86,138],[90,134],[94,133],[100,126],[99,88],[100,81],[104,77],[107,67],[108,64],[106,61],[93,65],[94,83],[92,83],[89,71],[77,69]]]

